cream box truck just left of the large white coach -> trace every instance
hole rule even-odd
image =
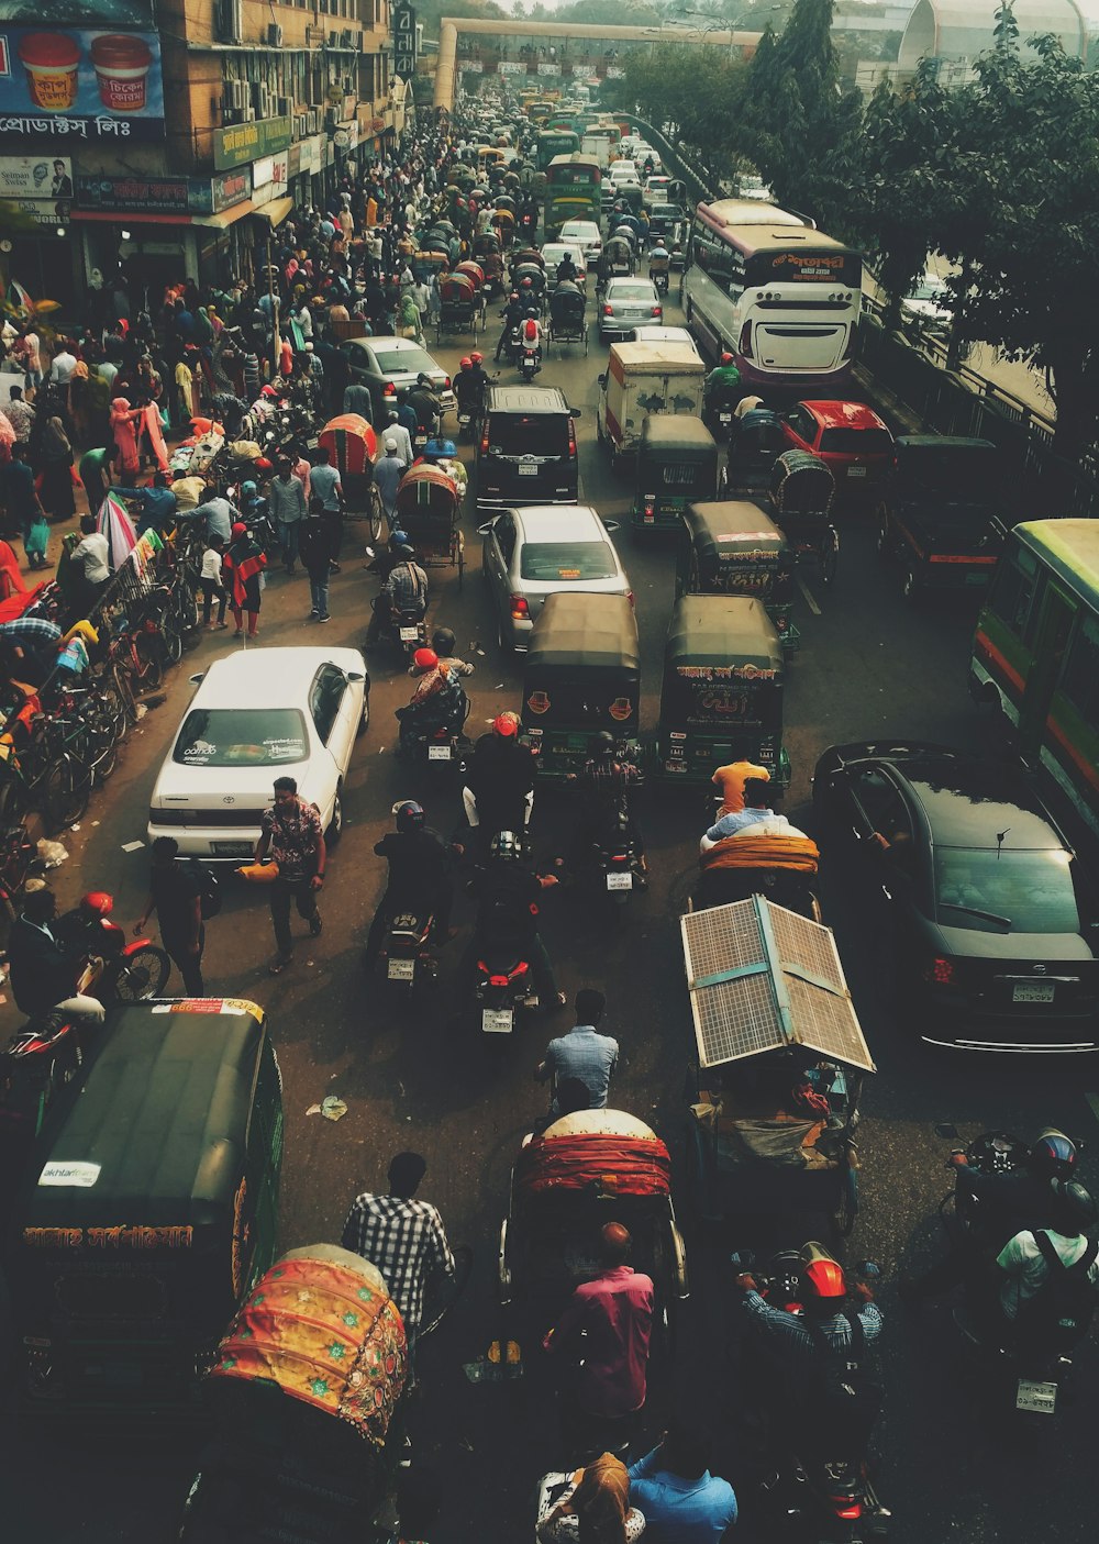
[[[705,364],[688,343],[614,343],[599,377],[596,434],[611,462],[633,455],[651,414],[701,418]]]

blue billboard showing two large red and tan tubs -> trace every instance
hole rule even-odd
[[[0,9],[3,0],[0,0]],[[0,23],[0,139],[164,139],[161,39]]]

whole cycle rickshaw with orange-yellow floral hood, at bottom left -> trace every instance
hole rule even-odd
[[[392,1485],[407,1376],[381,1272],[333,1244],[292,1249],[256,1283],[202,1387],[215,1434],[182,1544],[353,1538]]]

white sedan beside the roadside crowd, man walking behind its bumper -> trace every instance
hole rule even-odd
[[[174,837],[187,857],[247,862],[276,777],[343,826],[343,786],[370,720],[357,648],[249,648],[191,676],[198,690],[153,787],[148,840]]]

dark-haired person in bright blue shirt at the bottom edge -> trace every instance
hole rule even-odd
[[[630,1505],[653,1544],[716,1544],[736,1522],[733,1487],[710,1473],[701,1434],[682,1420],[628,1475]]]

